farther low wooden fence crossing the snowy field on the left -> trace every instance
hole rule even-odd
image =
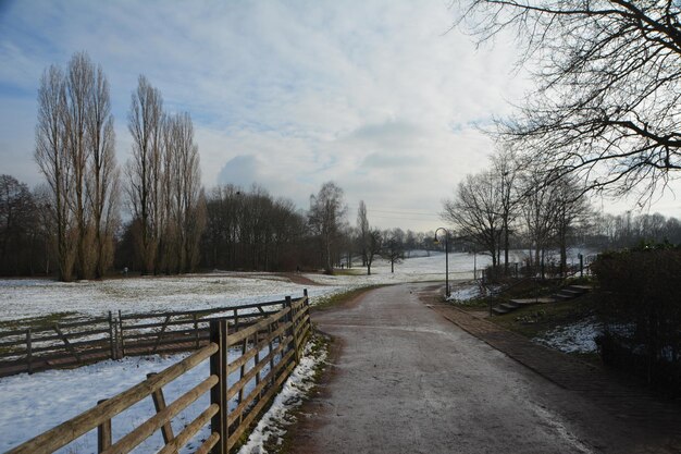
[[[305,297],[307,297],[307,290]],[[0,330],[0,377],[81,366],[102,359],[198,349],[209,340],[213,318],[233,330],[275,314],[285,300],[201,310],[123,314],[108,317]]]

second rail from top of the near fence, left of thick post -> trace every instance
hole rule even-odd
[[[158,377],[158,376],[157,376]],[[104,450],[101,454],[119,454],[128,453],[139,443],[151,437],[153,432],[159,430],[165,422],[177,416],[179,412],[191,405],[197,398],[210,391],[219,382],[218,377],[210,376],[191,390],[187,391],[181,397],[177,397],[172,404],[163,408],[161,412],[147,419],[135,430],[116,441]]]

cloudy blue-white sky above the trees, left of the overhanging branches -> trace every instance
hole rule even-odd
[[[511,39],[478,47],[446,0],[0,0],[0,173],[29,186],[37,90],[78,51],[111,87],[116,156],[144,74],[169,112],[188,112],[210,189],[253,183],[309,207],[333,181],[355,223],[443,225],[442,204],[483,170],[482,130],[530,87]]]

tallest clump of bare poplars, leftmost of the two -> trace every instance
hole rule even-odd
[[[50,188],[63,280],[101,277],[119,220],[113,116],[101,66],[76,53],[40,81],[35,158]]]

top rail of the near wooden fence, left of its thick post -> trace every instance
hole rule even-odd
[[[117,394],[107,402],[90,408],[81,415],[62,422],[61,425],[44,432],[32,440],[10,450],[8,454],[42,454],[52,453],[69,444],[73,440],[89,432],[108,419],[122,413],[126,408],[151,395],[157,389],[170,383],[177,377],[196,367],[201,361],[218,352],[216,344],[209,344],[198,352],[187,356],[182,361],[170,366],[156,377]]]

